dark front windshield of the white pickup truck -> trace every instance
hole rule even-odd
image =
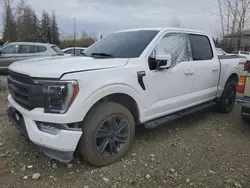
[[[139,30],[113,33],[87,48],[84,54],[86,56],[99,54],[115,58],[136,58],[141,55],[158,32]]]

